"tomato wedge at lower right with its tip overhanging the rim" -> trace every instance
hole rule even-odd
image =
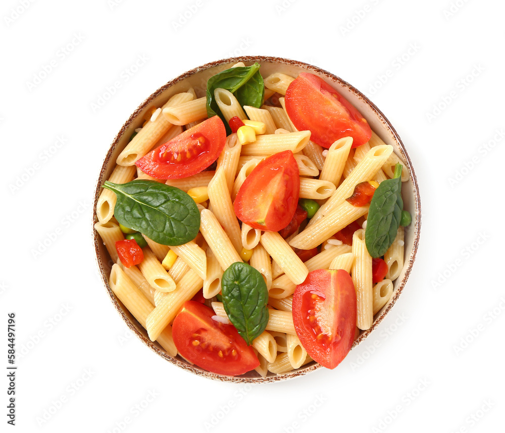
[[[296,286],[294,328],[312,359],[335,368],[345,358],[354,342],[356,308],[356,290],[345,270],[313,270]]]

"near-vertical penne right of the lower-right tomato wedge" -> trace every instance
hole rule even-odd
[[[352,236],[352,253],[355,255],[351,277],[356,288],[358,314],[356,325],[367,330],[374,321],[372,296],[372,257],[365,245],[365,230],[357,230]]]

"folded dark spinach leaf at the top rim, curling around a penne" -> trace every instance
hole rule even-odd
[[[207,116],[218,115],[226,126],[227,134],[231,129],[214,98],[214,90],[221,88],[233,93],[240,105],[260,108],[265,98],[265,85],[260,74],[260,65],[239,66],[226,69],[207,81]]]

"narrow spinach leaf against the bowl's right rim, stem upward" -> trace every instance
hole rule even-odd
[[[398,232],[403,200],[401,199],[401,165],[394,178],[382,181],[375,191],[368,211],[365,244],[372,257],[381,257],[391,246]]]

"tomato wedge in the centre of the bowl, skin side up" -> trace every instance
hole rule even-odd
[[[293,219],[300,193],[300,174],[291,150],[275,153],[247,176],[234,209],[252,228],[278,232]]]

